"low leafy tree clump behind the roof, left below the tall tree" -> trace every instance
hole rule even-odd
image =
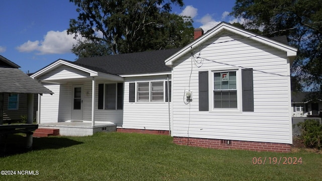
[[[78,58],[110,55],[111,51],[104,42],[93,42],[89,40],[78,40],[72,46],[71,52]]]

